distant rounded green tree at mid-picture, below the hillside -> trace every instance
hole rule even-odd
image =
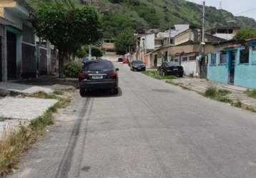
[[[121,31],[116,38],[114,46],[117,53],[124,54],[129,46],[134,46],[136,44],[136,36],[134,36],[134,30],[132,28],[127,28]]]

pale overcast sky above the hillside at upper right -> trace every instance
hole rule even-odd
[[[187,0],[202,4],[202,0]],[[205,0],[207,6],[219,8],[220,0]],[[256,0],[222,0],[222,9],[238,16],[249,16],[256,20]],[[250,11],[254,9],[253,11]],[[245,12],[247,11],[247,12]],[[245,13],[242,13],[245,12]],[[242,13],[242,14],[241,14]]]

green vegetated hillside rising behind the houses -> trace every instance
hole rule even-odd
[[[38,1],[55,0],[26,0],[36,4]],[[61,1],[61,0],[57,0]],[[72,1],[77,6],[79,0]],[[89,0],[88,0],[89,1]],[[95,2],[95,0],[93,0]],[[145,29],[166,29],[169,24],[189,23],[200,26],[202,6],[185,0],[98,0],[97,9],[102,14],[102,27],[105,38],[114,38],[120,31],[132,27],[138,33]],[[255,19],[245,16],[234,16],[229,11],[206,7],[206,28],[215,26],[240,26],[256,28]],[[235,21],[227,23],[228,21]]]

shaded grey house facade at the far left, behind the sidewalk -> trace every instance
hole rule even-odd
[[[0,1],[1,81],[36,78],[49,72],[51,51],[36,43],[32,11],[22,0]]]

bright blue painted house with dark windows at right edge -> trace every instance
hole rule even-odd
[[[208,54],[207,78],[256,88],[256,38],[215,45],[215,51]]]

